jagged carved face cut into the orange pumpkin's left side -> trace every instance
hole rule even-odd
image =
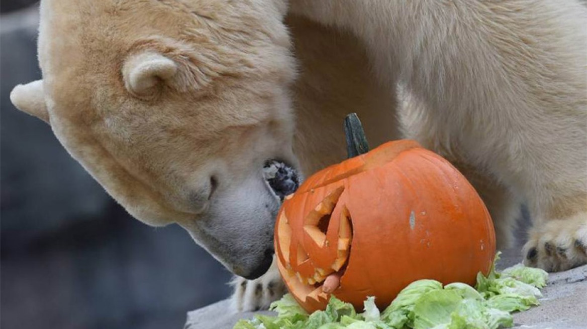
[[[344,190],[340,186],[331,191],[306,215],[301,228],[293,228],[302,231],[303,241],[292,238],[295,234],[285,211],[278,218],[279,270],[306,303],[328,301],[322,283],[330,274],[342,273],[348,263],[353,231],[349,210],[339,203]]]

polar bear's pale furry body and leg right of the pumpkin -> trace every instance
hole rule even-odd
[[[500,248],[511,245],[525,201],[535,226],[528,265],[564,270],[587,261],[581,2],[298,0],[291,10],[362,40],[381,83],[397,88],[404,136],[467,175]],[[254,309],[255,299],[243,304]]]

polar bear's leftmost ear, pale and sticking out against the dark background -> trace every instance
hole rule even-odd
[[[43,80],[19,84],[10,93],[10,101],[16,108],[49,123],[49,112],[45,102]]]

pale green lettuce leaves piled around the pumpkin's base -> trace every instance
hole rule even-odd
[[[499,259],[499,253],[495,261]],[[521,264],[478,273],[475,287],[464,283],[443,286],[418,280],[405,287],[383,312],[375,297],[367,297],[365,311],[332,296],[324,311],[306,313],[290,294],[271,304],[277,316],[240,320],[234,329],[496,329],[512,327],[511,312],[538,305],[539,288],[548,274]]]

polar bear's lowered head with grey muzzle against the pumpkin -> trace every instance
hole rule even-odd
[[[292,153],[295,78],[279,0],[43,0],[43,80],[12,102],[133,217],[177,223],[237,275],[268,269]]]

